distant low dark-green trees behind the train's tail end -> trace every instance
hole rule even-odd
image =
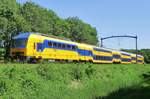
[[[133,49],[122,49],[122,51],[130,52],[130,53],[136,53],[136,50],[133,50]],[[138,54],[144,56],[144,60],[146,63],[150,63],[150,49],[138,50]]]

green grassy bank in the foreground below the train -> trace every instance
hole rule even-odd
[[[139,94],[148,97],[149,73],[150,65],[136,64],[1,64],[0,97],[134,99]]]

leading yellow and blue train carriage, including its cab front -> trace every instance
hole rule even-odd
[[[26,33],[13,38],[12,56],[28,59],[79,60],[77,44],[39,34]],[[21,41],[18,44],[17,41]]]

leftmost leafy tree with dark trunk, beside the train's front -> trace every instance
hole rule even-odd
[[[30,28],[24,18],[18,13],[15,0],[0,1],[0,38],[4,41],[5,59],[9,58],[12,37],[19,32],[29,31]]]

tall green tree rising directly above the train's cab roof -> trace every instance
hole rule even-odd
[[[27,2],[20,9],[20,14],[29,23],[32,32],[53,33],[59,17],[51,10]]]

